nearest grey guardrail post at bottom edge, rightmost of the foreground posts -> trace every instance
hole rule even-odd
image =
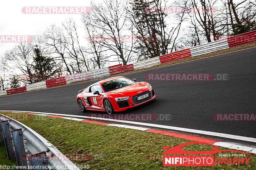
[[[29,165],[32,167],[30,170],[48,169],[48,168],[44,168],[44,167],[48,166],[47,156],[46,156],[45,152],[28,155],[28,161],[29,161]]]

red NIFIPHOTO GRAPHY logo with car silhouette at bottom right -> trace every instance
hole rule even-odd
[[[236,150],[221,150],[219,147],[215,145],[212,145],[211,151],[184,151],[181,149],[183,146],[191,145],[191,144],[212,145],[205,142],[187,142],[174,147],[163,146],[163,150],[165,150],[163,154],[186,154],[186,155],[164,155],[163,165],[164,166],[214,166],[214,163],[215,164],[235,164],[235,163],[248,164],[249,160],[251,159],[251,158],[245,157],[245,154],[251,155],[249,153],[236,151]],[[235,157],[234,158],[230,157],[229,159],[218,157],[215,160],[214,160],[214,155],[195,155],[195,154],[215,154],[218,152],[239,152],[243,154],[232,154],[232,156],[235,156]],[[194,154],[194,155],[187,155],[187,154]]]

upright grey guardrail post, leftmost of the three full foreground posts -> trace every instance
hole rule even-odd
[[[12,146],[12,137],[9,130],[8,120],[1,121],[1,126],[4,134],[4,144],[5,144],[8,159],[14,159],[15,154]]]

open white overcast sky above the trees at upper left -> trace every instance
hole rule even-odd
[[[45,28],[52,23],[60,24],[68,17],[79,21],[81,14],[24,14],[23,7],[89,7],[90,1],[81,0],[13,0],[1,1],[0,5],[0,35],[41,35]],[[0,42],[0,56],[15,43]]]

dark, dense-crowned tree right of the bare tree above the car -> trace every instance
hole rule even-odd
[[[168,16],[166,13],[168,7],[164,0],[139,0],[130,4],[131,8],[127,10],[128,19],[136,29],[133,34],[146,39],[142,42],[149,58],[172,52],[175,49],[181,23],[186,19],[185,11],[176,14],[175,17]],[[169,26],[170,20],[174,21],[172,26]]]

